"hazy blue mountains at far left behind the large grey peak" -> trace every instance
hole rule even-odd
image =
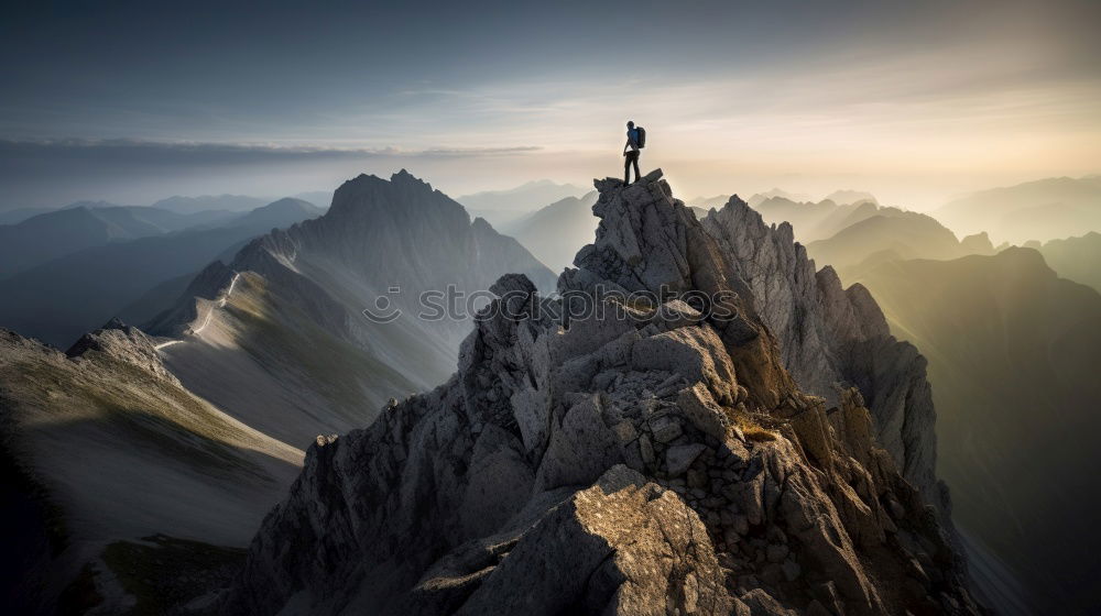
[[[208,213],[183,216],[155,208],[77,208],[0,228],[0,233],[13,235],[0,250],[45,244],[54,255],[61,253],[0,279],[0,326],[67,348],[154,286],[194,274],[259,234],[321,211],[298,199],[282,199],[215,221]],[[197,219],[206,222],[166,232],[170,223],[184,227]],[[33,254],[33,249],[26,250]],[[164,307],[151,304],[143,309],[144,316]]]

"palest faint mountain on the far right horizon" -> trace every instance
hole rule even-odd
[[[1042,242],[1101,231],[1101,176],[1055,177],[993,188],[933,212],[960,233],[986,231],[996,242]]]

